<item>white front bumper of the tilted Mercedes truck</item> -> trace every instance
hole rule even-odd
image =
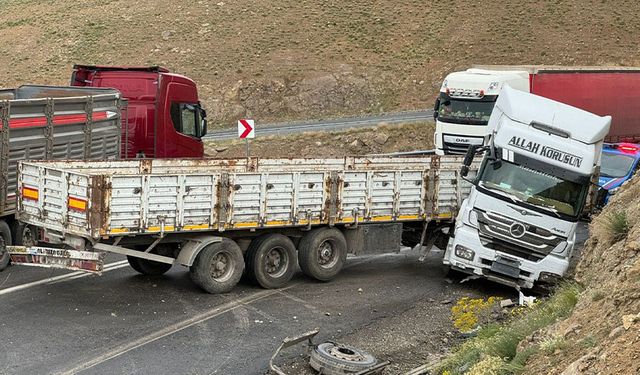
[[[465,259],[456,255],[456,246],[472,250]],[[456,270],[487,278],[501,284],[532,288],[538,281],[553,281],[566,273],[569,260],[552,254],[539,262],[487,249],[480,242],[478,231],[466,225],[457,228],[449,240],[443,263]]]

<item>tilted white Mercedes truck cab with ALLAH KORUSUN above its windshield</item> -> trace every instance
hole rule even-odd
[[[444,264],[523,288],[562,277],[610,124],[610,116],[505,86],[488,145],[465,158],[468,165],[485,151]]]

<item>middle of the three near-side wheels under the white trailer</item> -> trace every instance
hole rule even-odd
[[[265,289],[282,288],[293,277],[296,247],[287,236],[265,234],[251,241],[245,259],[251,281]]]

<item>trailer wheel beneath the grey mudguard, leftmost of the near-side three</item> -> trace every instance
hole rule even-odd
[[[240,281],[244,270],[242,250],[235,241],[223,238],[200,251],[189,269],[191,280],[208,293],[226,293]]]

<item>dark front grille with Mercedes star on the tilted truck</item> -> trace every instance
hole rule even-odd
[[[566,240],[546,229],[495,212],[479,209],[475,212],[483,246],[495,251],[537,262]]]

